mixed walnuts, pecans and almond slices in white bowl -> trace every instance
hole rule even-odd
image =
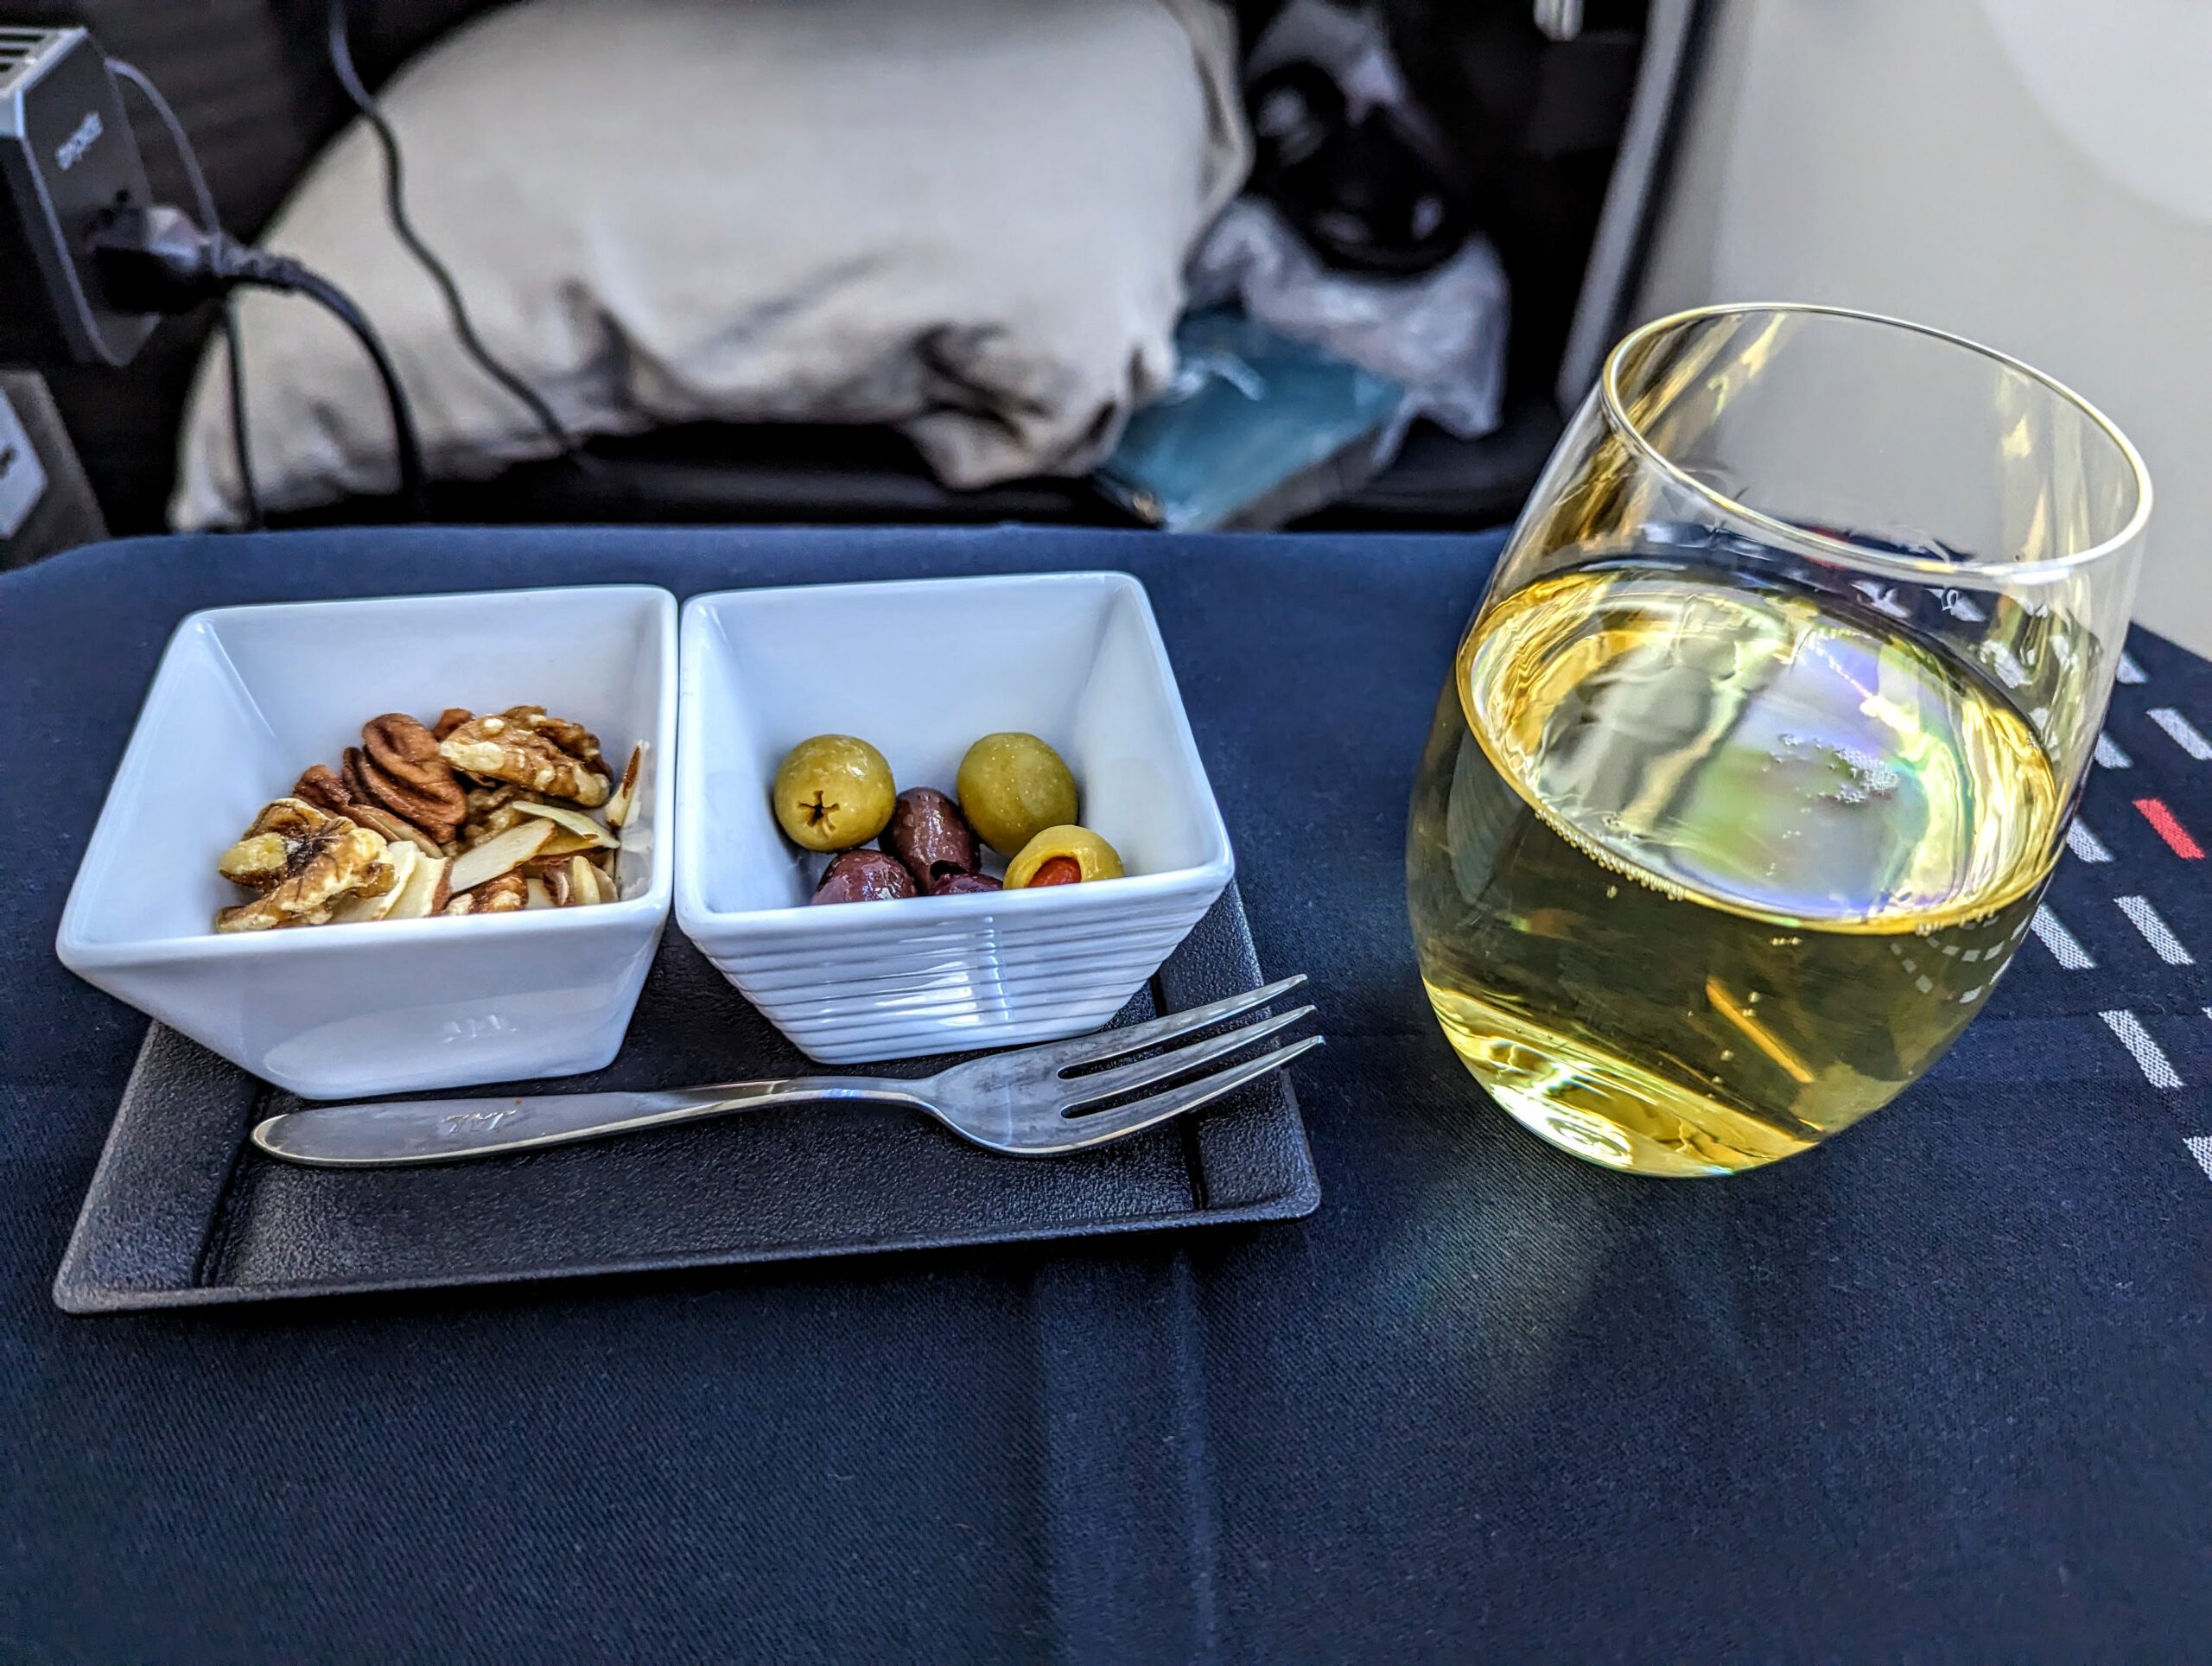
[[[372,717],[336,770],[312,766],[221,854],[217,872],[252,898],[215,929],[613,903],[644,752],[615,779],[599,739],[544,706]]]

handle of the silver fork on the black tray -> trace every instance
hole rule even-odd
[[[564,1146],[573,1139],[666,1128],[770,1104],[810,1100],[889,1100],[918,1104],[900,1082],[845,1075],[792,1075],[776,1082],[721,1082],[661,1093],[542,1093],[502,1100],[387,1100],[285,1111],[254,1128],[272,1157],[319,1168],[385,1168],[491,1157],[502,1150]]]

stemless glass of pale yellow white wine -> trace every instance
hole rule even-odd
[[[1889,1102],[2035,914],[2148,516],[2112,423],[1938,330],[1736,305],[1621,341],[1413,788],[1413,940],[1469,1071],[1641,1175]]]

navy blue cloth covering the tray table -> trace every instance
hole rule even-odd
[[[334,531],[0,577],[0,1659],[2194,1653],[2212,666],[2132,639],[2035,940],[1927,1082],[1635,1181],[1482,1102],[1407,945],[1407,785],[1495,546]],[[1261,965],[1314,973],[1316,1217],[53,1310],[144,1020],[51,940],[184,613],[1062,566],[1150,589]]]

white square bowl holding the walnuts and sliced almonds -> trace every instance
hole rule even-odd
[[[62,965],[232,1064],[343,1100],[615,1058],[668,920],[677,604],[650,586],[212,608],[177,626],[62,912]],[[542,704],[648,743],[615,903],[217,936],[215,858],[378,712]]]

